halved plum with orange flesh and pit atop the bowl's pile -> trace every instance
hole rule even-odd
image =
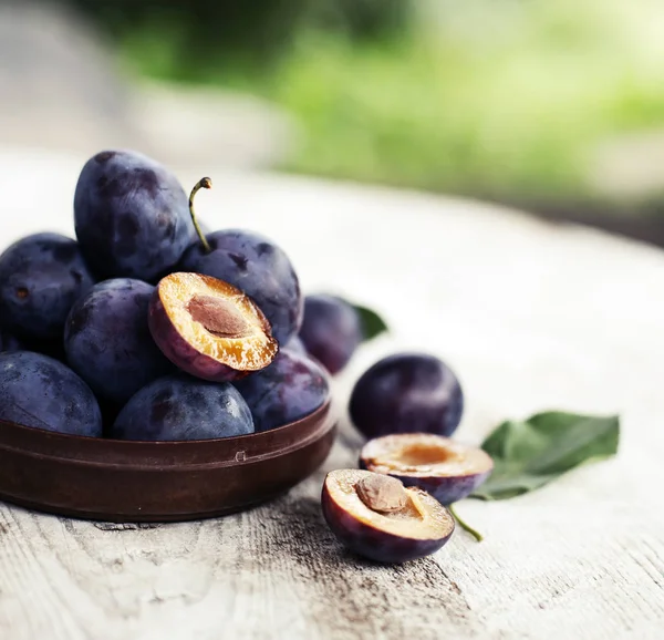
[[[148,326],[166,358],[212,382],[260,371],[278,350],[268,320],[247,295],[199,273],[176,272],[159,280]]]

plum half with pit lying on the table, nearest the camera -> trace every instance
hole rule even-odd
[[[426,492],[362,469],[330,472],[323,483],[322,509],[343,545],[385,564],[434,554],[455,528],[452,514]]]

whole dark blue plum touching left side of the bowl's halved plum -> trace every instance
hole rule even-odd
[[[154,287],[132,278],[95,285],[72,307],[64,348],[72,369],[100,396],[124,403],[174,370],[147,327]]]

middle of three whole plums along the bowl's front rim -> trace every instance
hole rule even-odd
[[[111,437],[175,441],[250,433],[251,412],[237,389],[180,373],[154,380],[136,393],[120,412]]]

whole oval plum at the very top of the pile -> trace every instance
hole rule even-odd
[[[74,194],[76,237],[103,278],[154,282],[195,238],[187,194],[156,161],[133,151],[91,157]]]

